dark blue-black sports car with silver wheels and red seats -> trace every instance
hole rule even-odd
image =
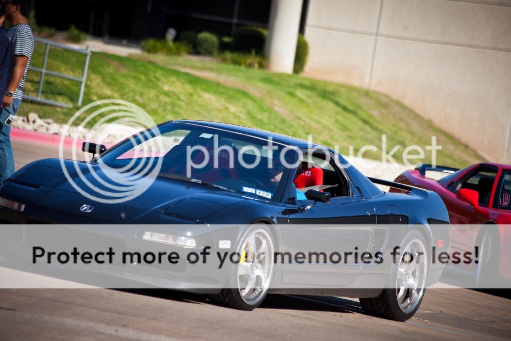
[[[0,222],[144,224],[144,231],[115,225],[108,240],[122,239],[130,250],[157,244],[239,252],[241,259],[223,280],[187,277],[189,263],[175,271],[155,266],[153,274],[169,279],[173,288],[194,291],[205,287],[202,280],[220,283],[215,298],[247,310],[260,305],[268,291],[315,292],[359,297],[368,313],[403,321],[442,272],[442,264],[428,257],[413,266],[403,257],[428,255],[432,246],[448,248],[448,225],[431,228],[449,221],[438,195],[368,179],[327,147],[240,126],[172,121],[108,150],[83,148],[99,155],[90,162],[40,160],[14,173],[0,188]],[[375,183],[408,193],[384,192]],[[397,245],[400,253],[384,270],[332,258],[286,266],[275,260],[276,251],[332,252],[341,244],[380,256]],[[148,268],[145,264],[144,272],[132,262],[109,272],[144,274],[148,281]],[[376,284],[356,285],[364,281]]]

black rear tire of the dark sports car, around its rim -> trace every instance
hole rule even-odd
[[[424,247],[425,252],[425,262],[426,269],[428,265],[428,254],[426,246],[426,240],[423,234],[417,230],[412,230],[408,232],[401,243],[401,250],[404,249],[406,245],[414,240],[420,240]],[[397,272],[398,266],[400,263],[392,264],[390,270],[389,280],[387,281],[387,287],[384,288],[377,297],[371,298],[361,298],[360,305],[364,309],[364,311],[370,315],[384,317],[385,319],[395,320],[395,321],[406,321],[413,316],[413,314],[419,309],[421,305],[422,299],[424,297],[424,293],[426,291],[424,285],[421,285],[419,288],[420,294],[416,298],[413,306],[410,309],[403,309],[398,300],[398,290],[397,286]],[[425,271],[426,274],[426,271]],[[425,275],[426,276],[426,275]]]

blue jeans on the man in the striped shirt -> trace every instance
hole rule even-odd
[[[0,185],[14,173],[14,153],[11,144],[11,126],[5,124],[10,115],[16,115],[21,100],[14,99],[12,107],[2,108],[0,113]]]

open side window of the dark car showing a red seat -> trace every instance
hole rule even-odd
[[[294,187],[289,198],[298,202],[310,201],[306,198],[305,193],[311,189],[329,192],[332,201],[347,197],[350,194],[349,181],[337,169],[333,157],[333,155],[324,151],[312,155],[305,153],[294,175]]]

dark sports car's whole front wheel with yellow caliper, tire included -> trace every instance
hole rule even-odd
[[[266,224],[251,226],[238,244],[240,261],[231,265],[226,284],[216,295],[216,301],[242,310],[258,307],[266,298],[273,280],[274,245]]]

